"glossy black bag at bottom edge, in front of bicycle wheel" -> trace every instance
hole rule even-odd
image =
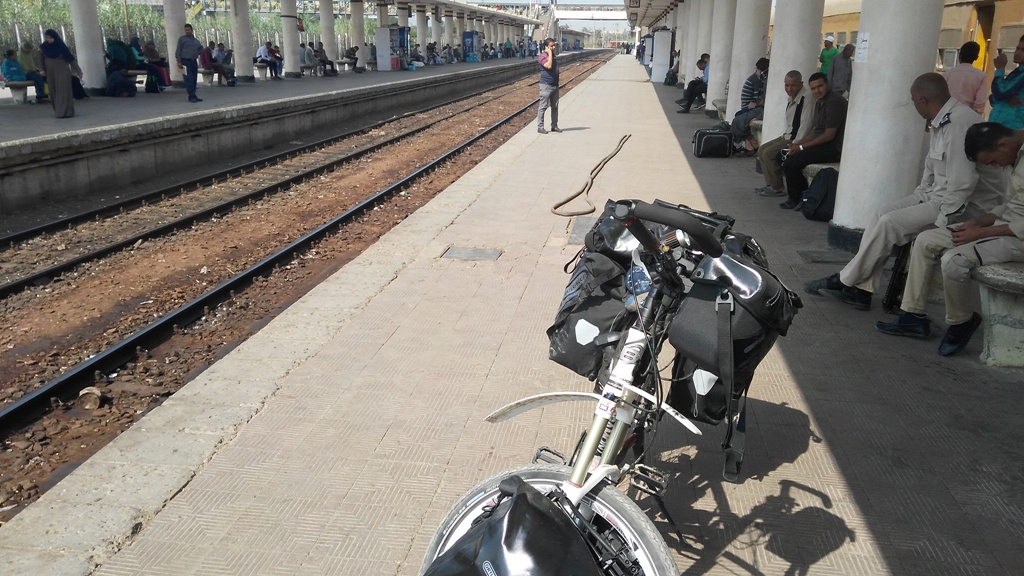
[[[557,504],[517,476],[423,576],[600,576],[590,545]]]

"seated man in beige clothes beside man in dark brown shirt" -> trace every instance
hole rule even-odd
[[[814,97],[804,86],[799,70],[791,70],[783,80],[785,95],[785,132],[781,136],[758,147],[758,160],[764,173],[765,186],[757,189],[761,196],[783,196],[782,151],[794,140],[803,139],[811,131],[814,117]]]

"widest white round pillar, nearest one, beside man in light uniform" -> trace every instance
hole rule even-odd
[[[926,134],[910,101],[910,83],[935,68],[942,8],[943,0],[864,0],[861,6],[857,72],[828,224],[831,246],[856,250],[878,209],[910,194],[921,180]]]

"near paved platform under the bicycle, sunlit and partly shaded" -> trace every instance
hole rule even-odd
[[[680,572],[1024,572],[1021,372],[983,365],[980,337],[941,358],[878,332],[878,302],[803,294],[850,255],[755,195],[754,160],[694,158],[713,121],[676,114],[680,93],[613,58],[563,95],[562,133],[510,138],[0,527],[0,574],[418,574],[466,490],[589,422],[589,404],[483,417],[591,389],[544,331],[592,220],[550,207],[627,134],[595,203],[731,214],[805,303],[751,387],[741,483],[722,480],[723,429],[660,426],[648,463],[683,540],[640,504]]]

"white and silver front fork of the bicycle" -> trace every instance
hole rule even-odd
[[[586,439],[572,467],[572,474],[569,476],[569,484],[577,488],[583,486],[587,479],[591,462],[597,454],[608,422],[614,421],[614,424],[605,442],[600,463],[613,464],[615,456],[626,442],[627,434],[633,425],[636,414],[634,403],[637,400],[637,395],[624,388],[633,383],[637,364],[642,361],[644,353],[647,351],[647,333],[644,328],[650,329],[653,326],[660,298],[658,287],[651,286],[646,298],[640,304],[636,322],[627,330],[626,339],[620,342],[617,356],[611,364],[607,381],[601,390],[601,401],[597,403],[594,419],[590,424],[590,429],[587,430]]]

